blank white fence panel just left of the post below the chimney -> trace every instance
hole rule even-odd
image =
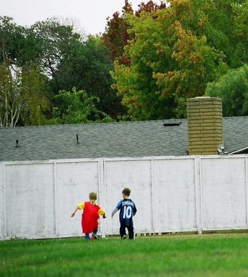
[[[153,161],[153,202],[155,232],[197,229],[194,159]]]

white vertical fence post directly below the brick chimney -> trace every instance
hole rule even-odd
[[[195,157],[195,192],[196,192],[196,226],[198,234],[202,234],[202,203],[201,203],[201,158]]]

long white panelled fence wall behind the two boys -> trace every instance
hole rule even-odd
[[[124,187],[137,233],[248,228],[248,155],[0,163],[0,238],[81,236],[75,206],[98,193],[99,234],[119,233]]]

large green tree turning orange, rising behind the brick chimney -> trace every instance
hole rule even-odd
[[[210,0],[172,0],[162,9],[128,14],[132,38],[115,60],[114,87],[134,119],[185,116],[185,100],[204,94],[226,70],[222,52],[208,43]]]

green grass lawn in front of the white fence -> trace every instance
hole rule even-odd
[[[0,276],[248,276],[248,234],[0,241]]]

